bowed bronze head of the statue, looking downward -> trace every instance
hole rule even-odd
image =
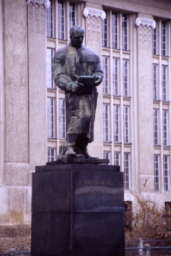
[[[70,39],[74,47],[79,48],[83,43],[84,29],[80,26],[72,26],[70,29]]]

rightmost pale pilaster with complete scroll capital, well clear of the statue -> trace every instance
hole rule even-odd
[[[139,131],[137,172],[140,175],[139,191],[148,194],[153,191],[154,187],[152,64],[155,21],[150,16],[138,17],[135,20],[135,25],[137,30],[137,120]]]

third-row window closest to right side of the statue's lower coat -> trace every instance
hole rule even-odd
[[[109,104],[103,104],[103,141],[110,141]]]

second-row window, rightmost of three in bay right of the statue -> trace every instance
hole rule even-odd
[[[129,97],[129,61],[123,60],[123,96]]]

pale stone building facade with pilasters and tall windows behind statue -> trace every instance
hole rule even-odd
[[[85,29],[101,58],[90,155],[124,172],[125,201],[171,202],[171,2],[0,0],[0,252],[30,248],[31,173],[66,131],[54,53]]]

